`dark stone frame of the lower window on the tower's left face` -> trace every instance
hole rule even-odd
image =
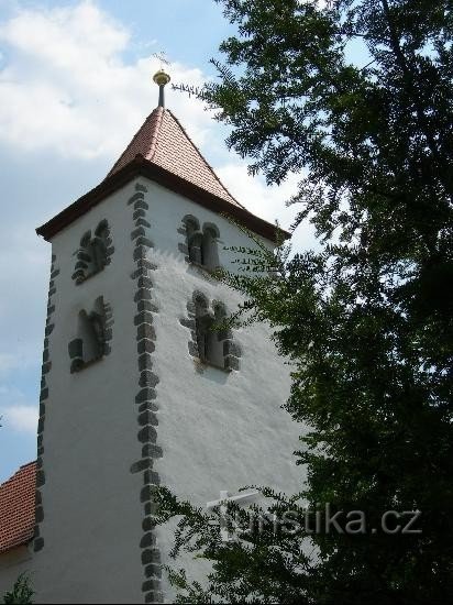
[[[97,310],[100,308],[100,312]],[[93,309],[88,314],[86,309],[80,309],[77,314],[77,320],[79,315],[85,312],[88,320],[100,321],[100,340],[99,340],[99,354],[88,362],[84,361],[84,340],[80,336],[73,339],[68,343],[68,353],[70,359],[70,373],[75,374],[81,372],[86,367],[89,367],[93,363],[101,361],[111,352],[110,341],[112,340],[112,326],[113,315],[111,306],[104,301],[103,296],[98,296],[95,301]]]

